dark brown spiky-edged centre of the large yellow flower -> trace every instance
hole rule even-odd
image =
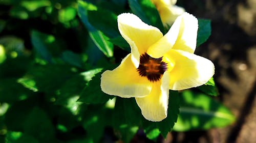
[[[146,76],[152,82],[160,80],[167,70],[167,64],[162,59],[162,57],[158,59],[152,58],[147,53],[140,55],[140,65],[137,69],[140,76]]]

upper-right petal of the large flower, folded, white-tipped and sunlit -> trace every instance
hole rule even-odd
[[[153,58],[160,58],[170,49],[194,53],[197,44],[198,20],[191,14],[183,13],[158,42],[147,50]]]

